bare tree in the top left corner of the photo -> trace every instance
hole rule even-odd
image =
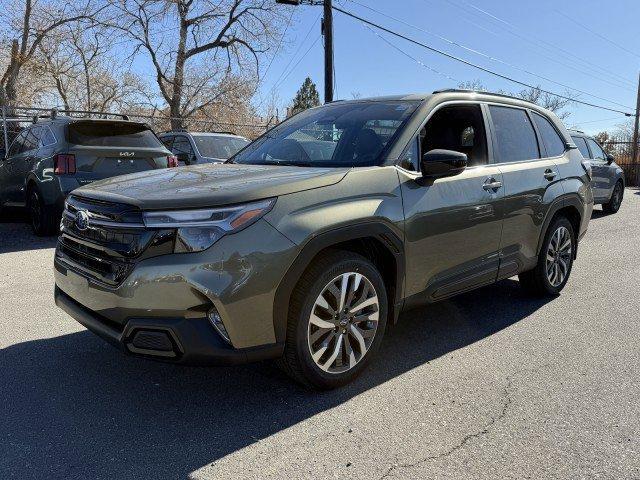
[[[3,41],[9,46],[9,60],[0,76],[0,103],[15,105],[20,72],[36,54],[40,44],[64,25],[93,22],[105,8],[94,0],[24,0],[15,2],[2,13]]]

